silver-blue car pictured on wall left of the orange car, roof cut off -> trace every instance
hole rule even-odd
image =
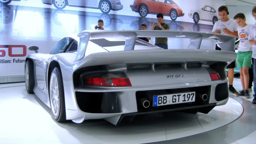
[[[66,6],[94,8],[100,9],[102,13],[123,9],[123,5],[119,0],[42,0],[42,3],[53,4],[58,9],[63,9]]]

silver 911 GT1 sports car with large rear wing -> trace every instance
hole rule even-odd
[[[185,49],[162,49],[138,37],[189,39]],[[199,49],[202,40],[223,49]],[[161,30],[83,31],[62,38],[49,54],[26,57],[28,93],[58,122],[180,111],[209,113],[228,100],[225,67],[236,58],[227,35]],[[170,46],[169,46],[170,47]]]

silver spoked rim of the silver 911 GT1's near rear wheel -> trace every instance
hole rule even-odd
[[[50,79],[50,101],[52,113],[56,116],[59,112],[59,83],[55,73]]]

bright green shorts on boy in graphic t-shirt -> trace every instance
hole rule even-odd
[[[243,66],[247,66],[251,68],[251,55],[252,55],[252,51],[247,51],[247,52],[238,51],[236,56],[237,67],[243,68]]]

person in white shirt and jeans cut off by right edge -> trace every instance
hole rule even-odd
[[[252,16],[256,20],[256,6],[252,9]],[[253,91],[254,91],[254,99],[252,100],[253,104],[256,104],[256,24],[251,26],[251,33],[249,35],[249,42],[252,44],[252,70],[253,70]]]

